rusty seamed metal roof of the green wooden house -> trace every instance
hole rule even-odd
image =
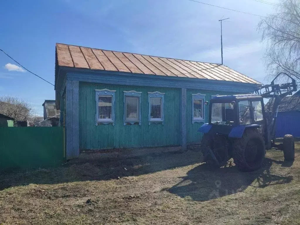
[[[225,65],[56,44],[57,65],[171,77],[226,80],[260,84]]]

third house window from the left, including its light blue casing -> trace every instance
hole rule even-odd
[[[165,93],[158,91],[148,92],[149,125],[151,123],[164,124],[164,95]]]

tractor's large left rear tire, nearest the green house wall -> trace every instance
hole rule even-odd
[[[226,166],[229,160],[228,141],[225,136],[204,134],[201,140],[203,161],[214,168]],[[211,156],[210,150],[215,155],[215,159]]]

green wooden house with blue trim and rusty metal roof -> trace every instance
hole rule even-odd
[[[221,64],[56,44],[55,99],[67,159],[80,150],[199,143],[213,95],[253,93]],[[65,115],[65,116],[64,116]],[[62,123],[61,123],[62,124]]]

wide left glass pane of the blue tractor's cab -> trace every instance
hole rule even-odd
[[[235,121],[234,106],[231,103],[213,103],[211,105],[211,123],[232,125]]]

